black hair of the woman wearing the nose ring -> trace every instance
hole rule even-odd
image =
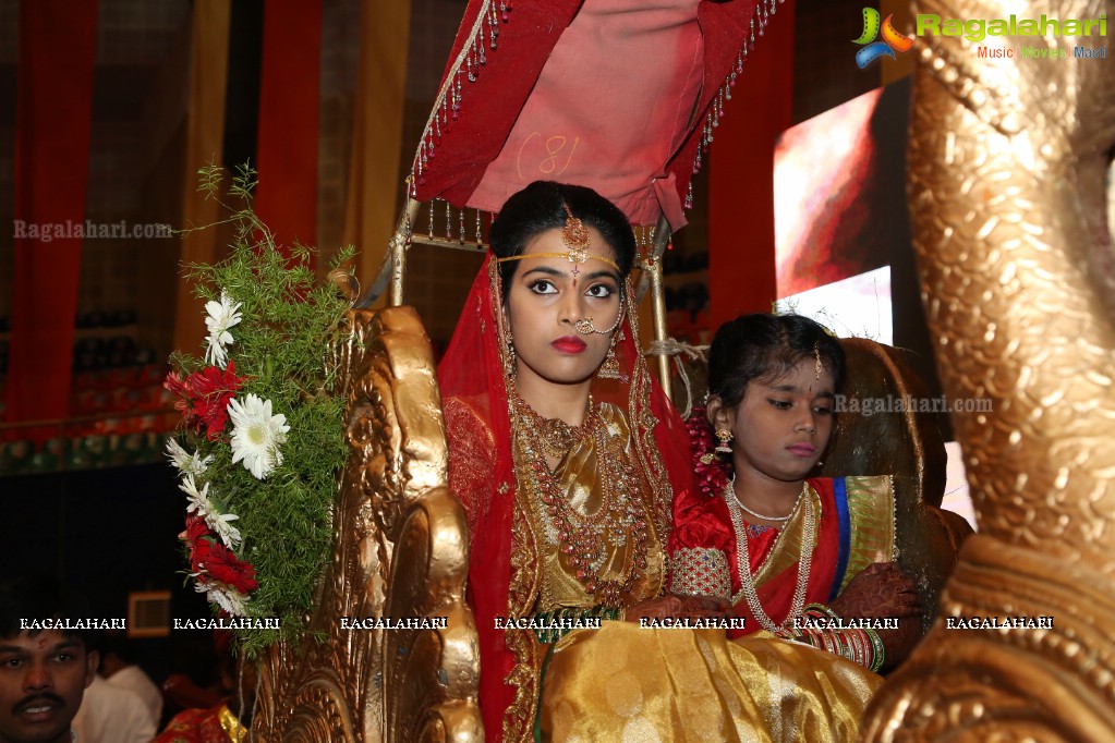
[[[634,263],[634,233],[631,223],[620,212],[619,207],[607,198],[584,186],[571,186],[552,180],[535,180],[526,188],[514,194],[500,209],[498,216],[492,222],[488,242],[496,257],[506,258],[522,255],[526,244],[535,236],[554,227],[565,226],[568,214],[584,223],[586,227],[595,227],[604,242],[615,253],[615,263],[620,267],[620,281],[627,278]],[[511,280],[515,275],[518,261],[507,261],[500,264],[500,280],[503,283],[503,300],[507,300],[511,291]]]

